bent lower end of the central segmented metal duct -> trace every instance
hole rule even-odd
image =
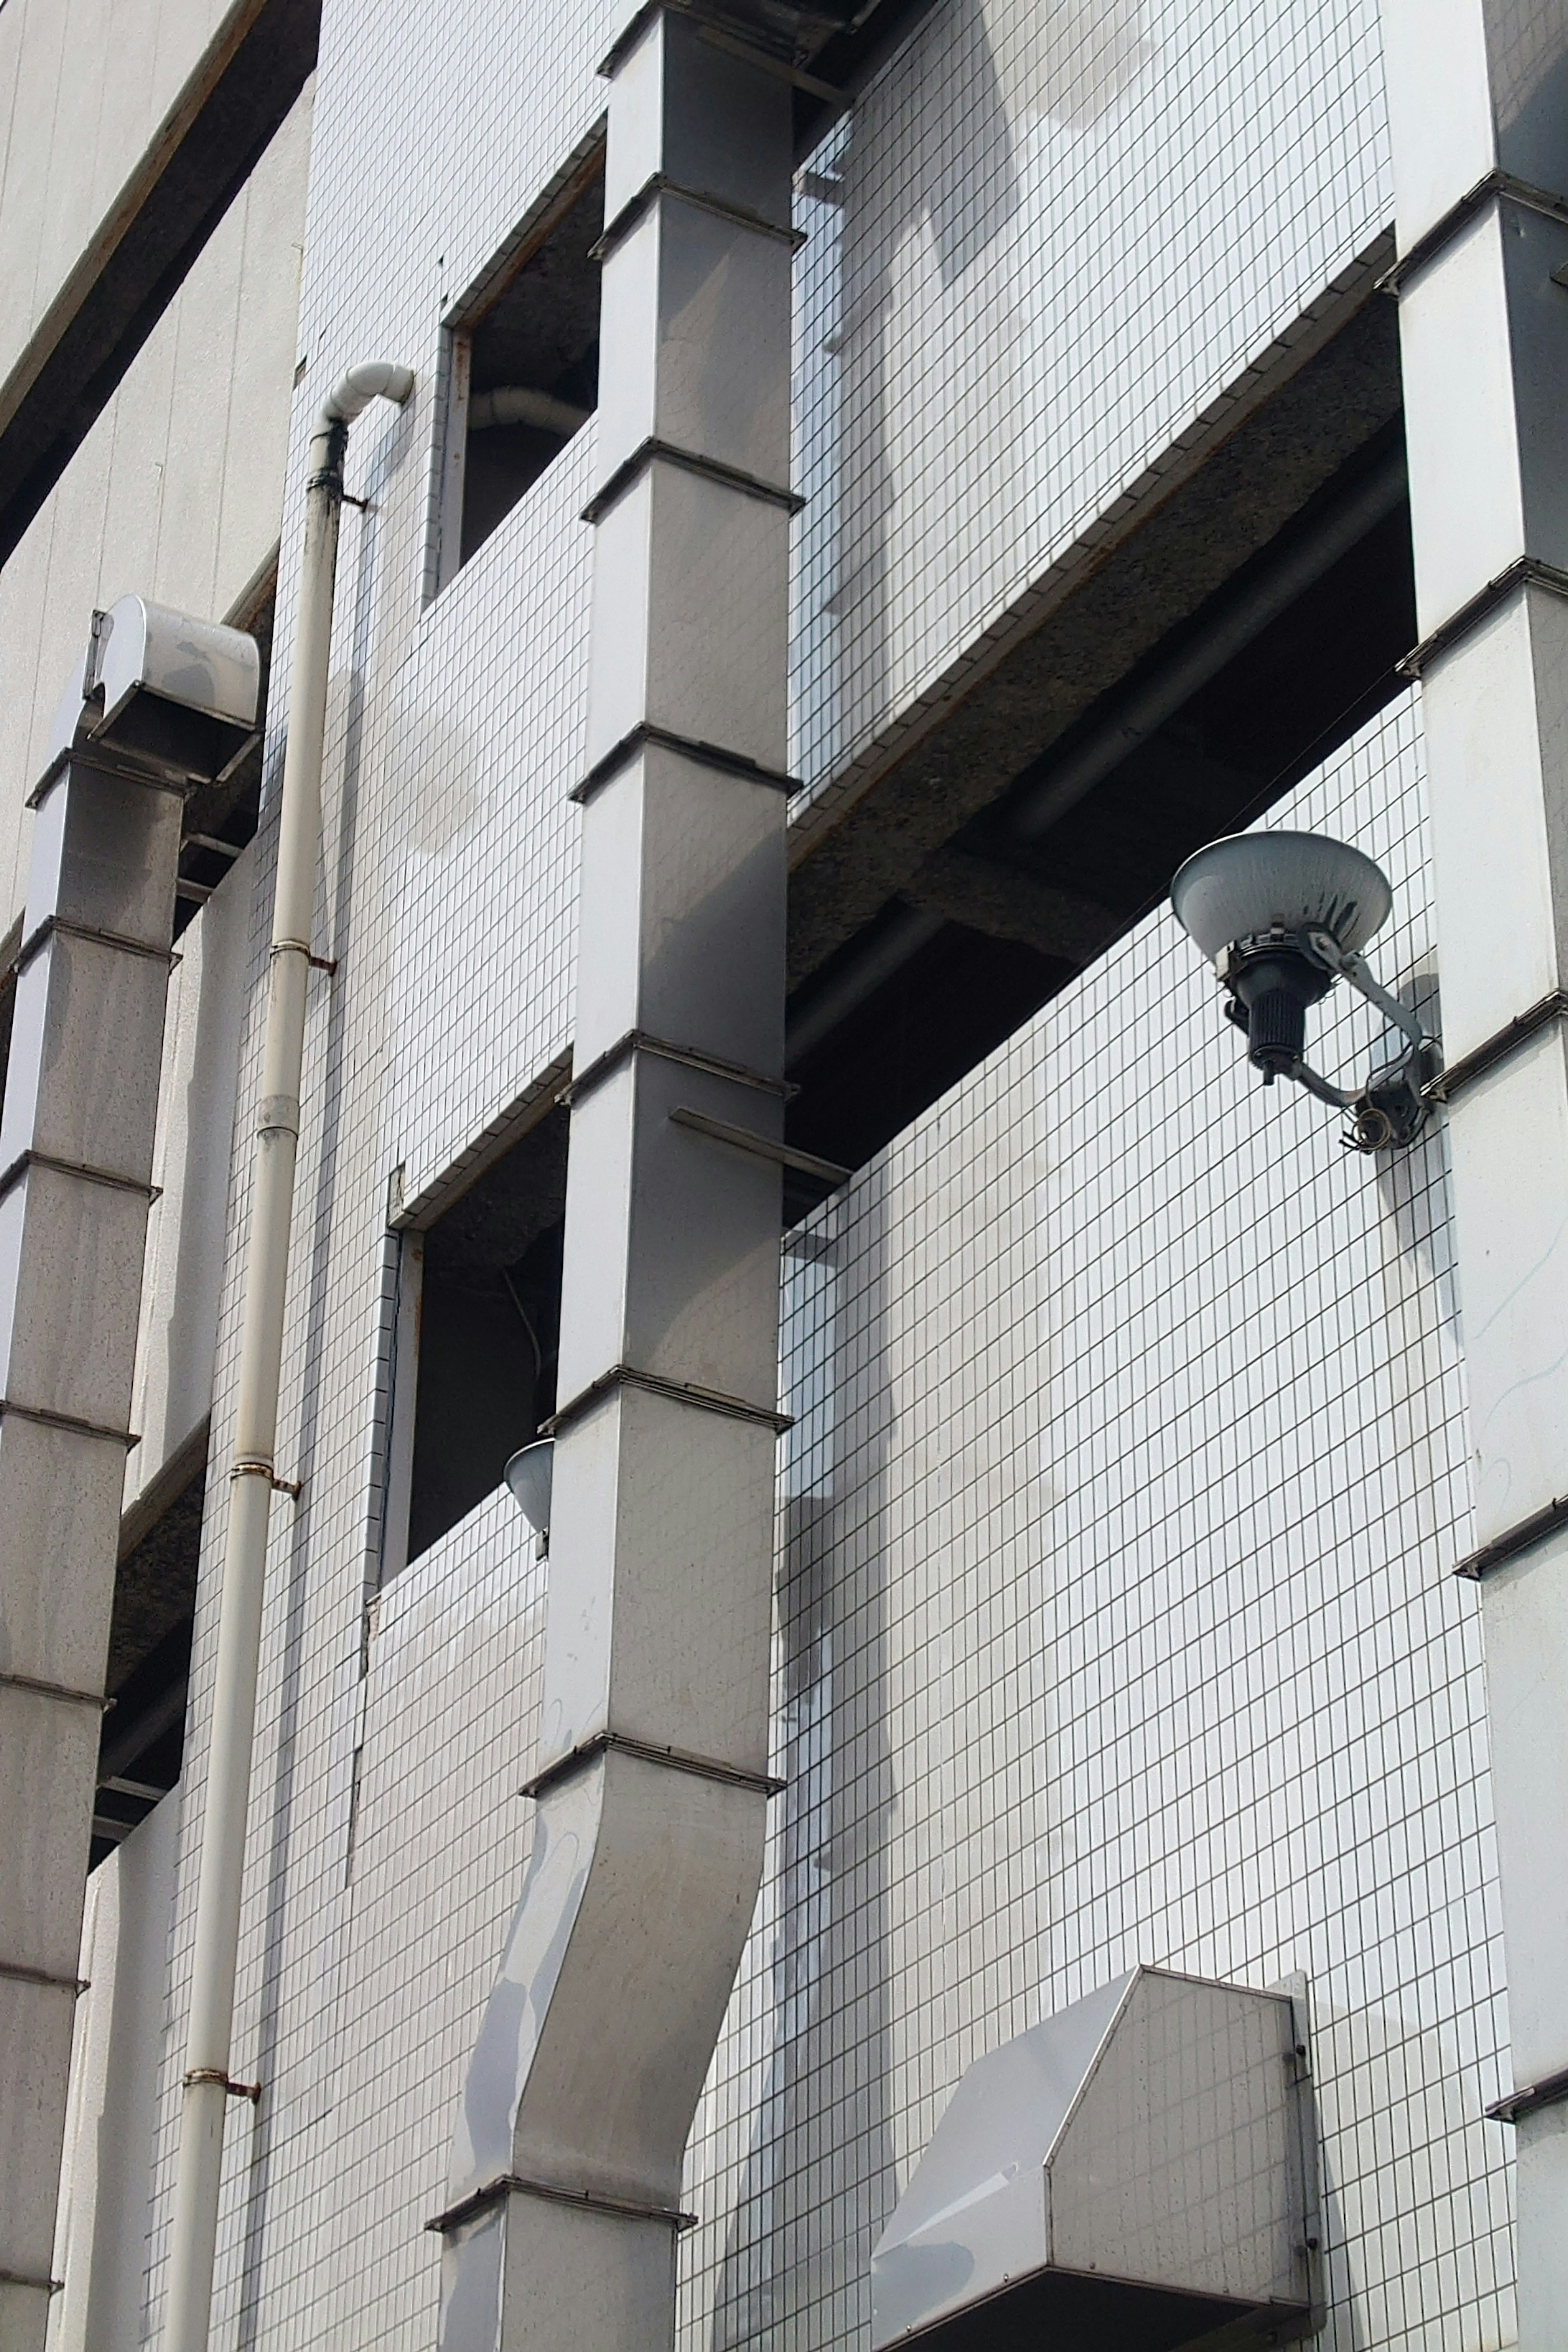
[[[663,2343],[682,2154],[764,1844],[762,1785],[639,1755],[609,1752],[541,1795],[463,2089],[451,2206],[430,2223],[447,2237],[442,2352],[557,2345],[562,2310],[538,2307],[536,2281],[541,2265],[571,2270],[557,2237],[588,2249],[585,2230],[599,2284],[581,2281],[574,2340]],[[494,2328],[473,2333],[477,2307]]]

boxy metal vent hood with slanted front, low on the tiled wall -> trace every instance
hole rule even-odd
[[[1309,2126],[1288,1994],[1119,1976],[964,2074],[872,2253],[875,2352],[1305,2333]]]

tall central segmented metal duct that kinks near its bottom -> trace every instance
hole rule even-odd
[[[790,87],[663,7],[607,73],[536,1835],[433,2223],[444,2352],[672,2343],[771,1788]]]

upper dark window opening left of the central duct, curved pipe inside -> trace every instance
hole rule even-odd
[[[458,562],[482,548],[599,405],[604,155],[590,158],[498,289],[454,334],[463,419]]]

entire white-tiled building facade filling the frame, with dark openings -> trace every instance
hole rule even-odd
[[[92,1867],[0,2343],[882,2352],[969,2067],[1154,1969],[1288,1997],[1307,2310],[1039,2340],[1556,2352],[1568,7],[5,0],[0,49],[21,983],[94,612],[263,675],[169,868],[92,1823],[7,1733],[14,1851]],[[303,517],[371,360],[197,2338]],[[1168,884],[1248,828],[1387,873],[1415,1143],[1229,1035]]]

